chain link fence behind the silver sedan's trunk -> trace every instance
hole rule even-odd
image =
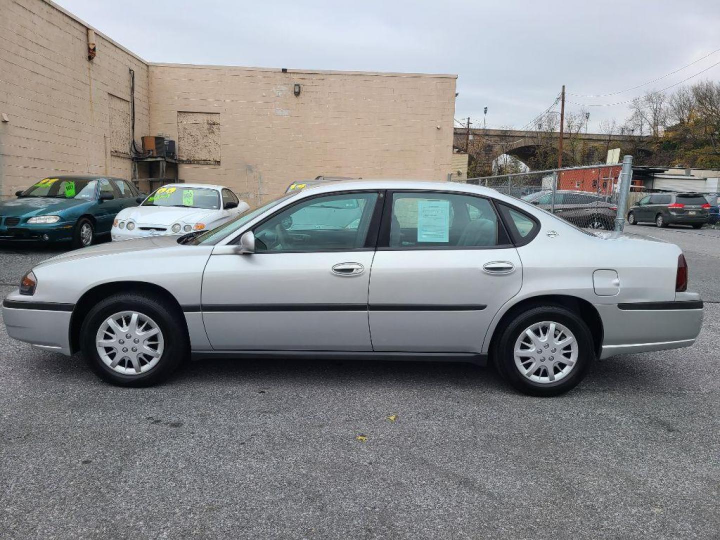
[[[624,218],[626,214],[618,214],[622,169],[619,164],[559,168],[469,178],[467,184],[536,204],[578,227],[614,230],[618,215]]]

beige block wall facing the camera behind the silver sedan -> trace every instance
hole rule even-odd
[[[318,174],[444,181],[455,82],[150,64],[150,132],[177,140],[181,179],[225,184],[251,206]]]

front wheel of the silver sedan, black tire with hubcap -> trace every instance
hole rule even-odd
[[[132,314],[138,315],[135,326]],[[124,387],[158,384],[168,379],[189,356],[189,338],[181,317],[177,307],[160,295],[114,294],[93,307],[83,321],[80,329],[83,356],[105,382]],[[116,326],[109,324],[110,319]],[[159,332],[143,338],[155,329]],[[101,348],[96,343],[101,336],[106,338],[107,347]],[[133,348],[137,349],[135,354]]]

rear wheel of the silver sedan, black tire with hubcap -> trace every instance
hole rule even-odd
[[[545,343],[541,330],[545,328],[547,335],[552,328],[550,325],[555,328],[552,340],[562,342],[570,333],[574,342],[553,352],[552,345],[555,343],[552,340]],[[532,331],[537,341],[532,341],[526,334],[526,330],[531,328],[535,328]],[[527,348],[529,343],[539,348]],[[516,355],[516,351],[528,351],[528,354]],[[558,355],[573,360],[572,365],[557,361]],[[516,390],[527,395],[551,397],[571,390],[585,378],[595,360],[595,349],[588,326],[575,312],[557,305],[544,305],[519,312],[510,320],[500,334],[493,356],[498,372]],[[554,361],[550,361],[551,358]]]

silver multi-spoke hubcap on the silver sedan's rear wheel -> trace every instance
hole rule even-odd
[[[564,379],[576,363],[577,340],[560,323],[535,323],[515,342],[515,365],[533,382],[549,384]]]

